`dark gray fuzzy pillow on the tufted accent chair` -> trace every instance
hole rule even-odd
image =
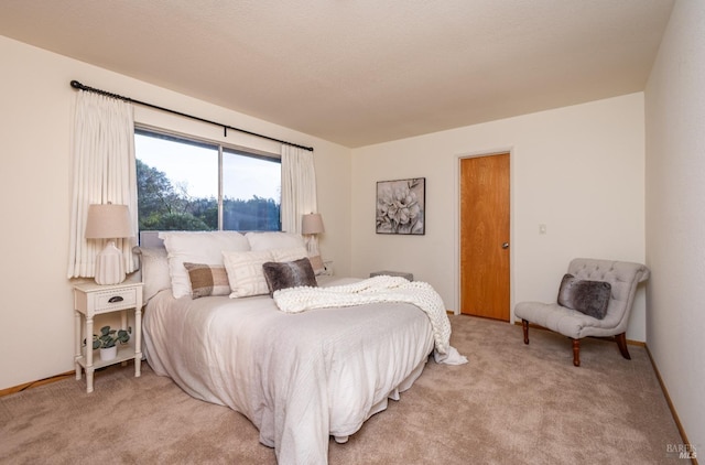
[[[608,282],[579,280],[573,274],[565,274],[558,290],[558,305],[603,320],[611,293],[612,286]]]

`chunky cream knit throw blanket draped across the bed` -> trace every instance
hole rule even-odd
[[[379,275],[352,284],[329,288],[299,286],[275,291],[279,310],[299,313],[313,309],[364,305],[368,303],[410,303],[421,309],[431,322],[436,361],[451,365],[467,359],[451,347],[451,322],[441,295],[431,284],[401,277]]]

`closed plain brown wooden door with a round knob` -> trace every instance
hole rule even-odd
[[[460,312],[509,321],[509,153],[460,160]]]

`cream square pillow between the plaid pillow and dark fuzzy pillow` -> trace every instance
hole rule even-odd
[[[269,292],[262,270],[262,264],[272,261],[272,253],[269,250],[224,251],[223,258],[230,283],[230,299],[262,295]]]

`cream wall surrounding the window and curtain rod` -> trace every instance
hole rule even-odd
[[[73,301],[66,279],[70,196],[72,79],[202,118],[313,145],[325,259],[349,272],[350,151],[0,36],[0,390],[73,369]],[[135,107],[135,120],[223,140],[217,127]],[[230,131],[230,143],[278,144]]]

